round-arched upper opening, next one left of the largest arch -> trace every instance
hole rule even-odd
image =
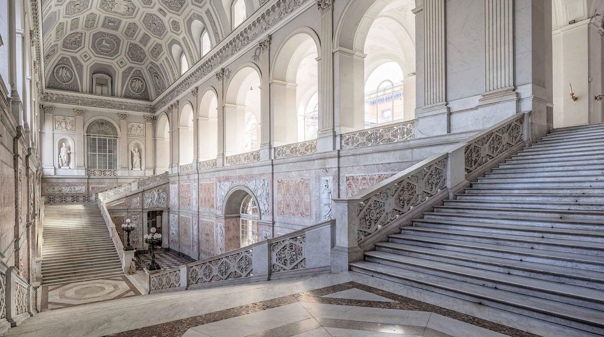
[[[279,48],[272,71],[274,145],[316,139],[318,131],[318,47],[297,33]]]

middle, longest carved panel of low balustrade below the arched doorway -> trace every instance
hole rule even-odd
[[[252,250],[217,258],[204,263],[189,265],[189,284],[233,280],[252,276]]]

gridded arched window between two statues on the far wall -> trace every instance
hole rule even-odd
[[[117,129],[104,119],[86,128],[86,155],[89,169],[117,169]]]

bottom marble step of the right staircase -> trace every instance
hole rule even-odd
[[[571,304],[537,298],[502,289],[452,280],[443,276],[430,275],[413,270],[385,266],[384,264],[361,261],[351,263],[356,272],[386,278],[410,286],[432,290],[449,296],[473,300],[487,306],[498,307],[522,315],[565,324],[593,333],[604,333],[604,312]]]

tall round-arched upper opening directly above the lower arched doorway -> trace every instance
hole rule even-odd
[[[224,113],[225,154],[259,149],[260,74],[255,68],[243,67],[234,74],[226,89]]]

